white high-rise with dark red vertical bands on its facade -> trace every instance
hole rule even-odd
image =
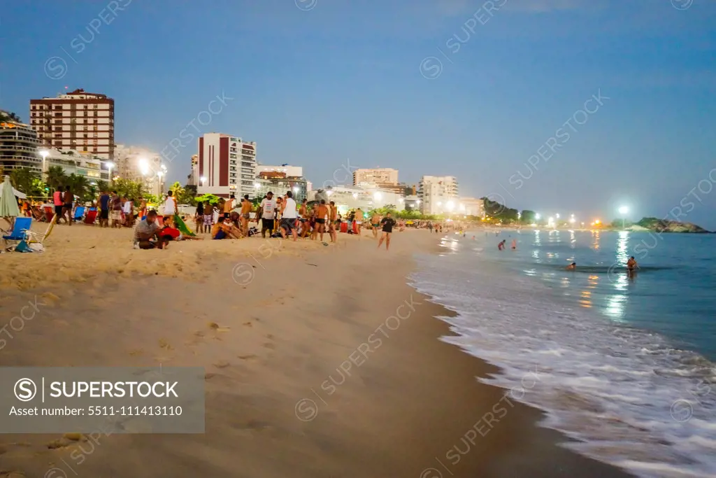
[[[256,193],[256,142],[206,133],[199,143],[199,194],[249,197]]]

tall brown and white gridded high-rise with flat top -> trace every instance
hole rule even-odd
[[[30,125],[44,145],[115,157],[115,100],[107,95],[80,89],[30,100]]]

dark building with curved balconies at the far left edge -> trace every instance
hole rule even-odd
[[[42,173],[39,144],[37,131],[30,125],[13,121],[0,123],[0,167],[4,173],[19,168],[30,168],[34,173]]]

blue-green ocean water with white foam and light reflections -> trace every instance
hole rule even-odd
[[[458,312],[443,340],[502,368],[485,383],[524,391],[581,454],[640,477],[716,477],[716,234],[438,237],[412,285]]]

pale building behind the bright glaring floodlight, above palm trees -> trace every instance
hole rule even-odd
[[[160,153],[140,146],[116,145],[112,176],[142,181],[147,193],[163,196],[167,168]]]

